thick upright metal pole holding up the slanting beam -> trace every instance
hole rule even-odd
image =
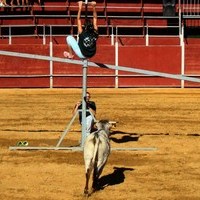
[[[87,59],[83,60],[83,89],[82,89],[82,137],[81,137],[81,147],[83,147],[86,138],[86,93],[87,93]]]

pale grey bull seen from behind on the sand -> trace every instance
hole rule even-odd
[[[111,126],[108,120],[100,120],[96,123],[97,131],[91,133],[85,140],[83,147],[86,176],[85,195],[89,194],[88,185],[92,172],[92,191],[95,191],[99,186],[98,179],[110,154],[109,130]]]

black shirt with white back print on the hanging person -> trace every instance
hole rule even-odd
[[[91,58],[96,53],[96,41],[98,39],[98,33],[93,32],[90,33],[84,30],[81,34],[79,34],[79,41],[78,45],[82,54],[87,57]]]

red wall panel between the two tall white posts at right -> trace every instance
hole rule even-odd
[[[179,74],[181,51],[178,46],[122,47],[119,49],[119,65],[156,72]],[[119,74],[131,74],[119,72]],[[140,74],[141,75],[141,74]],[[179,87],[180,81],[142,74],[137,77],[121,77],[120,87],[172,86]]]

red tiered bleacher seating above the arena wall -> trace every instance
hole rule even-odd
[[[190,6],[182,5],[180,8],[184,16],[187,16],[186,13],[190,11],[188,10]],[[5,38],[9,37],[10,32],[11,36],[15,38],[12,41],[19,39],[19,42],[23,42],[23,40],[15,36],[20,35],[20,33],[23,36],[32,37],[30,42],[37,38],[40,39],[43,35],[48,37],[52,34],[53,37],[57,38],[69,34],[76,35],[77,9],[76,0],[46,0],[42,5],[35,3],[27,7],[1,7],[0,36],[4,39],[2,43],[5,43]],[[119,37],[132,36],[138,37],[139,40],[146,34],[153,37],[158,36],[157,40],[159,40],[160,35],[162,37],[166,35],[166,38],[169,35],[177,38],[181,25],[178,3],[175,11],[175,16],[163,16],[163,3],[156,0],[97,0],[99,34],[100,37],[109,37],[112,33],[116,34],[117,32]],[[84,20],[84,13],[82,17]],[[90,8],[88,9],[88,17],[92,17]],[[195,27],[199,26],[200,20],[198,18],[185,18],[181,23],[185,26]],[[162,44],[163,41],[165,40],[162,39]]]

